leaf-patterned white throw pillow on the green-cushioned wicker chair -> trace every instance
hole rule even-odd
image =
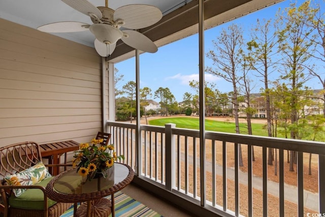
[[[44,164],[39,162],[19,173],[5,176],[5,180],[9,185],[33,185],[39,183],[47,177],[51,177],[51,174],[48,172]],[[14,192],[15,196],[18,197],[24,193],[26,189],[13,189],[12,191]]]

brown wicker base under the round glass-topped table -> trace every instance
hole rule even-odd
[[[88,210],[88,205],[90,205]],[[87,213],[88,211],[88,213]],[[77,211],[77,217],[108,217],[112,212],[112,204],[109,199],[101,198],[95,201],[82,203]],[[89,215],[88,215],[89,214]]]

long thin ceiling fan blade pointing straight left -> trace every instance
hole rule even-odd
[[[73,33],[89,29],[89,24],[83,22],[54,22],[37,27],[38,30],[46,33]]]

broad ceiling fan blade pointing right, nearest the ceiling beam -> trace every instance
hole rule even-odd
[[[158,22],[163,17],[161,11],[152,5],[125,5],[114,12],[114,20],[122,19],[122,26],[140,29]]]

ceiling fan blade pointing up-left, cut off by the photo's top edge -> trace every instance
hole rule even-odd
[[[87,0],[61,0],[61,1],[85,15],[92,16],[92,14],[94,14],[98,18],[102,18],[102,12]]]

